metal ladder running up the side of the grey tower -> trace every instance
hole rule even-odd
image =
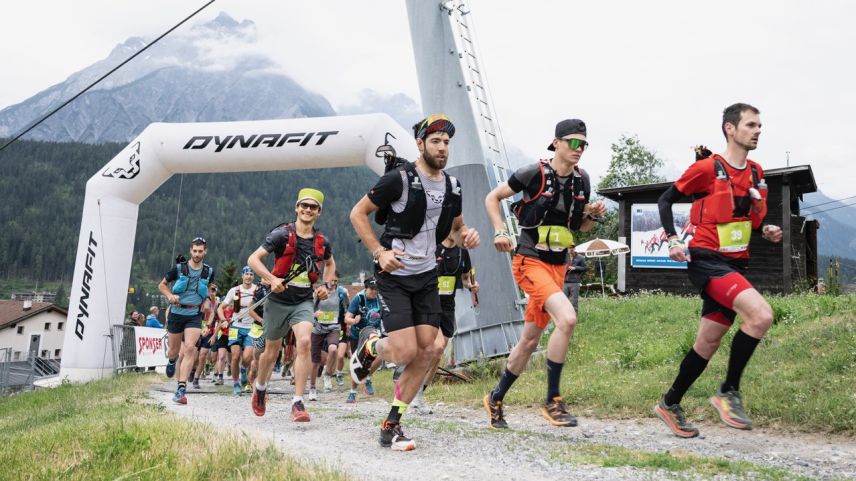
[[[472,111],[476,117],[476,127],[479,130],[482,151],[485,152],[487,156],[485,160],[490,166],[487,169],[488,180],[491,187],[495,188],[500,183],[508,181],[511,171],[496,116],[493,113],[493,100],[488,92],[485,75],[478,60],[474,41],[475,34],[467,21],[467,14],[470,13],[470,10],[465,0],[441,2],[440,9],[448,15],[449,24],[454,34],[458,61],[461,62],[466,81],[467,97],[470,99]],[[463,87],[463,85],[461,86]],[[514,236],[516,241],[520,232],[517,219],[511,214],[511,199],[505,199],[500,203],[500,214],[505,219],[508,232]]]

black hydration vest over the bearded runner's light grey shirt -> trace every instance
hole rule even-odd
[[[413,162],[402,161],[398,171],[407,176],[407,204],[401,212],[395,212],[391,207],[379,210],[375,214],[375,222],[385,225],[380,243],[387,249],[392,247],[392,239],[412,239],[422,229],[425,215],[428,211],[428,200],[425,187]],[[439,244],[452,231],[453,212],[461,209],[461,186],[458,179],[445,174],[446,195],[443,197],[443,207],[440,219],[437,221],[436,243]]]

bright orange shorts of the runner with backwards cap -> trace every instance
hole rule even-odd
[[[511,272],[517,285],[529,295],[524,314],[526,322],[534,322],[540,329],[547,327],[550,314],[544,310],[544,303],[548,297],[562,292],[567,268],[565,264],[548,264],[532,257],[514,255]]]

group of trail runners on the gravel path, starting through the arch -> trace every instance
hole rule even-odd
[[[324,205],[324,194],[318,190],[299,192],[295,220],[267,234],[249,256],[242,284],[232,288],[216,309],[206,305],[217,304],[209,281],[214,270],[203,263],[206,242],[202,238],[192,241],[191,259],[178,262],[160,285],[172,304],[167,322],[167,375],[178,373],[176,402],[186,403],[186,383],[195,362],[199,363],[197,372],[202,372],[205,346],[209,350],[216,347],[224,353],[217,356],[219,382],[223,362],[228,360],[235,392],[251,389],[252,412],[264,416],[270,379],[283,342],[290,337],[295,353],[294,421],[310,420],[304,404],[307,381],[308,399],[317,396],[318,376],[325,389],[334,379],[341,386],[343,361],[350,352],[347,402],[356,399],[360,384],[371,392],[371,374],[381,363],[398,366],[400,375],[389,414],[380,426],[379,442],[393,450],[415,449],[415,442],[404,434],[402,418],[408,408],[420,403],[421,393],[455,333],[456,289],[478,292],[467,250],[477,248],[481,237],[464,222],[460,181],[444,171],[455,126],[444,115],[432,115],[414,125],[413,132],[419,157],[415,161],[395,159],[351,210],[354,230],[375,263],[374,277],[366,280],[364,290],[353,299],[343,296],[329,239],[315,226]],[[703,300],[695,343],[681,362],[674,383],[654,406],[655,414],[681,437],[699,434],[684,415],[682,397],[702,374],[737,315],[742,323],[732,342],[727,374],[710,401],[727,425],[751,428],[740,379],[772,323],[769,304],[744,277],[752,231],[771,242],[782,238],[778,226],[763,222],[767,210],[764,172],[748,159],[758,145],[760,112],[748,104],[729,106],[723,112],[722,132],[725,151],[699,151],[697,162],[659,199],[669,255],[688,263],[689,279]],[[552,425],[577,425],[560,389],[577,324],[576,307],[563,287],[569,263],[574,265],[569,259],[574,233],[590,230],[606,213],[602,202],[590,202],[591,182],[579,165],[587,147],[586,124],[579,119],[562,120],[547,147],[552,158],[518,169],[484,199],[494,229],[494,248],[513,253],[512,274],[528,298],[519,341],[496,386],[483,399],[489,424],[496,429],[508,429],[505,396],[522,375],[550,322],[554,328],[546,343],[547,387],[541,412]],[[515,242],[500,203],[517,194],[518,200],[511,204],[520,227]],[[671,210],[672,204],[685,197],[693,199],[691,222],[695,226],[688,246],[675,232]],[[380,237],[371,225],[372,215],[383,225]],[[274,262],[269,269],[265,258],[271,254]],[[254,287],[255,276],[263,287]],[[173,283],[171,287],[169,283]],[[203,336],[200,323],[205,313],[214,310],[218,314],[208,314]],[[222,341],[224,337],[226,341]],[[183,357],[180,365],[179,354]],[[249,373],[247,379],[242,378],[244,373]]]

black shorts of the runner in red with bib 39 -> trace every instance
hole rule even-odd
[[[690,258],[692,262],[687,264],[687,275],[701,296],[701,316],[716,319],[722,324],[733,324],[737,313],[716,302],[705,292],[705,288],[711,279],[725,277],[735,272],[745,276],[748,260],[729,259],[708,249],[690,249]]]

